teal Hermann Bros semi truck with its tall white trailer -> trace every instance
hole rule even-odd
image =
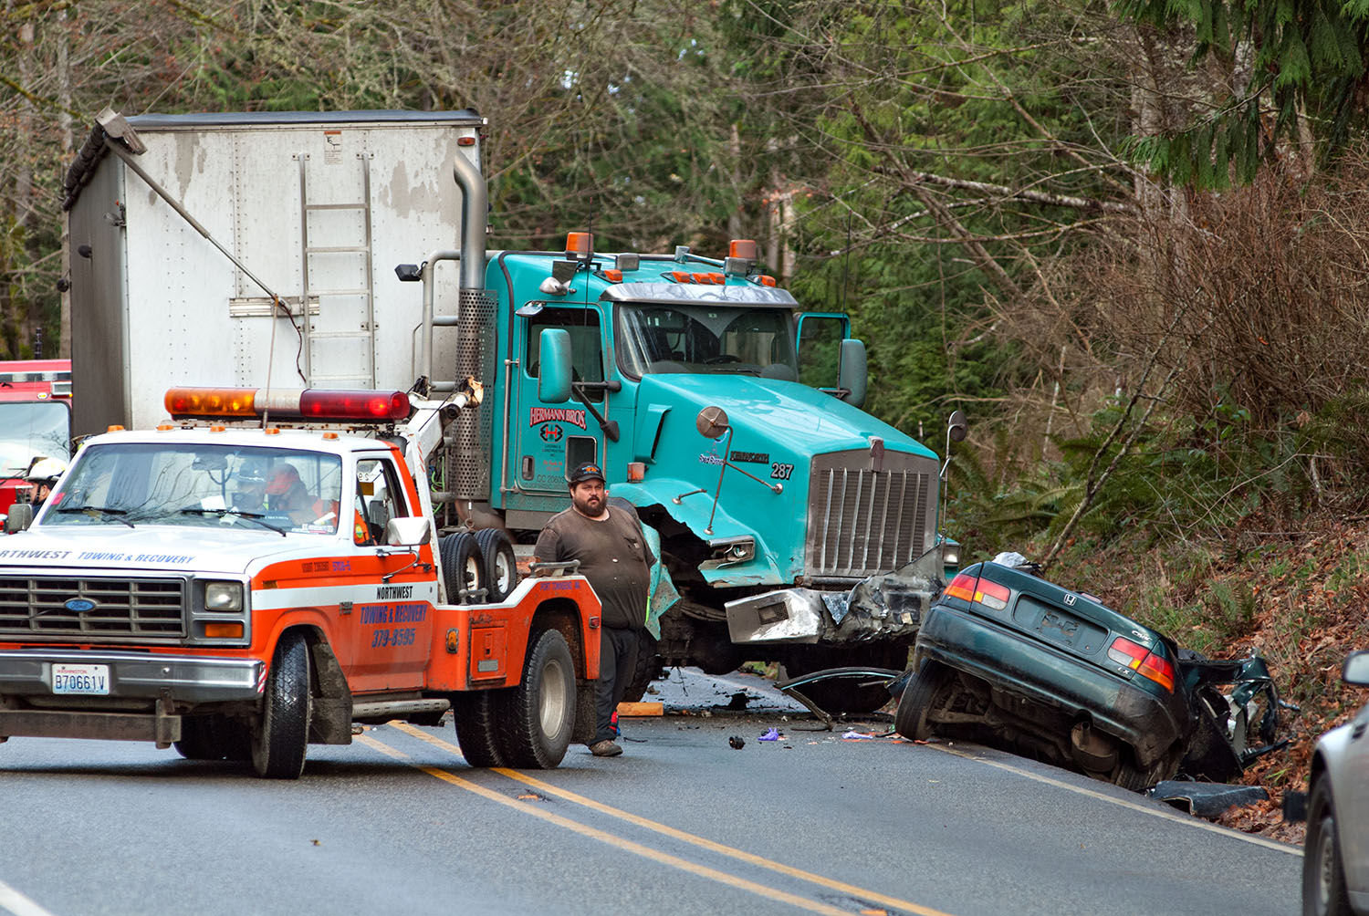
[[[847,318],[806,312],[746,240],[487,251],[483,127],[103,112],[67,179],[77,431],[155,424],[140,398],[170,385],[445,397],[430,483],[452,526],[531,544],[596,460],[658,533],[679,597],[656,604],[650,664],[904,668],[957,548],[938,456],[861,409]],[[887,700],[819,693],[832,712]]]

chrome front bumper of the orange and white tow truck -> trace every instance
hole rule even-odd
[[[103,693],[57,693],[53,670],[84,665],[107,678]],[[0,741],[31,738],[181,739],[177,704],[256,700],[266,663],[256,659],[144,652],[0,652]],[[152,712],[112,712],[111,700],[153,701]],[[146,705],[142,707],[146,709]]]

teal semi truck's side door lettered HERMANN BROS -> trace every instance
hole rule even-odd
[[[509,416],[513,452],[507,486],[508,508],[560,511],[565,508],[565,478],[583,461],[604,461],[604,431],[594,415],[572,396],[565,404],[545,404],[537,396],[538,351],[542,331],[564,329],[571,337],[571,366],[576,382],[604,381],[604,327],[597,308],[548,305],[531,318],[519,319],[515,346],[522,370],[517,397]],[[604,414],[602,389],[586,392],[594,409]]]

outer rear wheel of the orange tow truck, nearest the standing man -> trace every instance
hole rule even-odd
[[[552,769],[575,731],[575,661],[559,630],[530,641],[523,680],[505,697],[501,750],[507,765]]]

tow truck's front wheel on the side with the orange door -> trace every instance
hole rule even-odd
[[[252,765],[264,779],[298,779],[309,742],[309,646],[298,633],[281,637],[266,678],[261,716],[252,730]]]

